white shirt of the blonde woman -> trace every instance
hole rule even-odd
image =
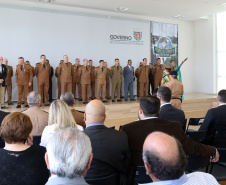
[[[44,146],[46,147],[47,143],[49,142],[49,139],[52,137],[52,135],[55,133],[55,124],[53,125],[49,125],[49,126],[46,126],[43,130],[43,133],[42,133],[42,137],[41,137],[41,143],[40,143],[40,146]],[[77,125],[77,128],[81,131],[83,131],[83,128],[82,126],[80,125]]]

